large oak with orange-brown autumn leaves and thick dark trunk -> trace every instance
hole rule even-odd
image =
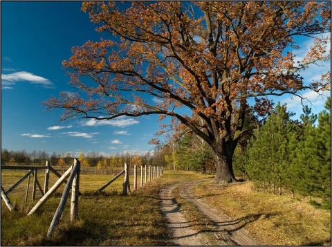
[[[268,95],[330,89],[330,73],[311,84],[299,75],[330,58],[321,35],[331,31],[329,1],[91,1],[82,10],[104,39],[73,48],[63,65],[77,93],[50,98],[46,108],[66,109],[62,120],[176,118],[212,147],[214,183],[236,181],[232,156],[244,120],[251,109],[270,111]],[[299,63],[295,36],[315,39]]]

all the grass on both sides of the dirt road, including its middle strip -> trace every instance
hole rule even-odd
[[[1,185],[8,190],[24,174],[24,171],[2,170]],[[44,177],[39,176],[40,180]],[[211,178],[194,172],[165,171],[163,176],[143,187],[138,182],[138,190],[129,196],[121,196],[123,176],[120,176],[102,194],[94,196],[93,192],[113,176],[81,174],[80,220],[70,222],[68,199],[51,240],[46,240],[46,233],[64,185],[37,213],[28,217],[26,213],[41,194],[37,191],[36,200],[31,202],[30,188],[28,202],[24,203],[27,184],[24,181],[9,194],[15,212],[10,212],[1,202],[1,246],[169,246],[172,245],[167,241],[170,232],[158,207],[158,191],[170,183]],[[50,185],[56,180],[51,175]],[[132,181],[130,177],[131,190]],[[331,246],[331,210],[314,208],[308,198],[262,194],[251,190],[251,186],[250,182],[212,185],[208,180],[199,183],[195,193],[220,212],[240,221],[264,245]],[[174,193],[176,196],[177,192]],[[193,205],[183,199],[179,203],[187,217],[196,221],[196,226],[201,230],[210,228],[208,220]]]

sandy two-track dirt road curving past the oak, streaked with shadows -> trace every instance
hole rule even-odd
[[[159,192],[160,209],[169,222],[172,229],[172,241],[179,246],[257,246],[255,239],[252,239],[248,232],[244,230],[237,221],[233,221],[220,212],[217,212],[203,199],[193,196],[192,189],[198,181],[176,183],[164,187]],[[208,217],[214,225],[214,230],[197,232],[190,227],[190,222],[185,219],[178,205],[176,198],[172,196],[172,191],[180,188],[182,199],[190,201],[196,205],[205,217]]]

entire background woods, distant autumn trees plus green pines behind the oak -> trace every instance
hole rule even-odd
[[[268,118],[264,118],[264,124],[255,127],[248,123],[247,129],[253,131],[248,131],[235,149],[234,172],[237,177],[254,181],[257,190],[282,194],[286,189],[293,196],[296,193],[319,196],[326,205],[331,205],[331,98],[318,116],[309,107],[303,111],[300,120],[292,120],[294,113],[277,104]],[[89,152],[81,153],[79,160],[83,166],[97,168],[122,166],[125,162],[161,165],[169,170],[215,172],[210,146],[196,135],[185,131],[170,134],[165,143],[141,156],[129,153],[104,156]],[[70,165],[73,156],[1,149],[1,165],[44,165],[46,160],[51,165]]]

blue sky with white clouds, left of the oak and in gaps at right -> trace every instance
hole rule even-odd
[[[158,116],[118,118],[95,122],[77,119],[57,122],[61,111],[45,112],[41,102],[60,91],[70,91],[62,61],[71,48],[88,40],[99,41],[89,15],[79,1],[1,1],[1,148],[46,151],[78,156],[80,152],[143,154],[159,129]],[[297,51],[303,56],[311,42]],[[330,68],[304,72],[307,82]],[[313,112],[321,111],[324,97],[311,91]],[[288,109],[302,113],[299,100],[279,99]],[[277,102],[278,99],[275,99]]]

